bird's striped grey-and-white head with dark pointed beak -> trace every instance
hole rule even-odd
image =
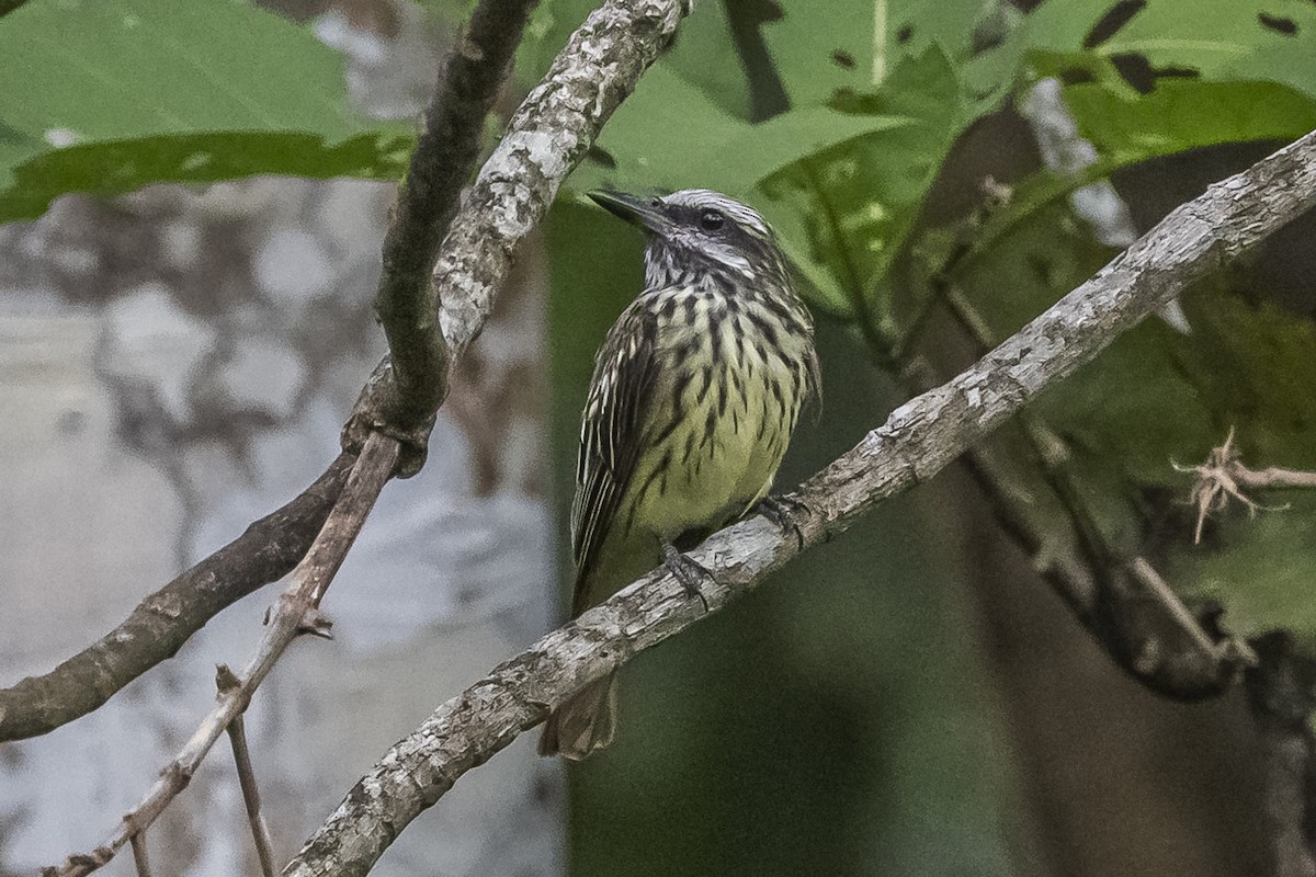
[[[757,210],[708,189],[663,197],[591,192],[600,206],[647,231],[645,280],[650,288],[725,280],[788,283],[776,235]]]

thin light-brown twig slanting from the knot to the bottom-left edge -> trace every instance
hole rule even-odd
[[[217,703],[174,760],[161,770],[159,780],[141,803],[129,810],[109,839],[88,855],[74,855],[58,868],[42,870],[46,877],[79,877],[89,874],[114,857],[124,844],[155,822],[164,807],[191,782],[196,768],[234,718],[251,702],[251,694],[274,668],[283,651],[299,634],[328,635],[329,622],[320,613],[320,600],[342,565],[347,550],[375,505],[375,498],[393,473],[399,444],[395,439],[374,434],[366,442],[357,464],[347,476],[338,505],[325,521],[315,544],[283,589],[267,618],[265,636],[236,684],[221,689]]]

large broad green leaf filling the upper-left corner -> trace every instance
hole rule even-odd
[[[343,60],[241,0],[32,0],[0,26],[0,221],[66,192],[251,174],[393,176],[411,131],[346,100]]]

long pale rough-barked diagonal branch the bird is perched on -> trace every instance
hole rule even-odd
[[[926,481],[1044,389],[1194,280],[1316,204],[1316,133],[1174,210],[1091,280],[954,380],[901,405],[851,451],[801,485],[797,531],[754,517],[691,557],[712,580],[691,597],[654,571],[441,705],[347,793],[284,869],[361,876],[397,834],[468,769],[544,721],[587,682],[751,590],[809,546],[842,533],[879,500]]]

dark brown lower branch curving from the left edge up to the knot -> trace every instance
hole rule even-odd
[[[72,722],[172,657],[211,618],[288,575],[311,547],[355,462],[342,454],[297,498],[147,596],[114,630],[42,676],[0,689],[0,743]]]

